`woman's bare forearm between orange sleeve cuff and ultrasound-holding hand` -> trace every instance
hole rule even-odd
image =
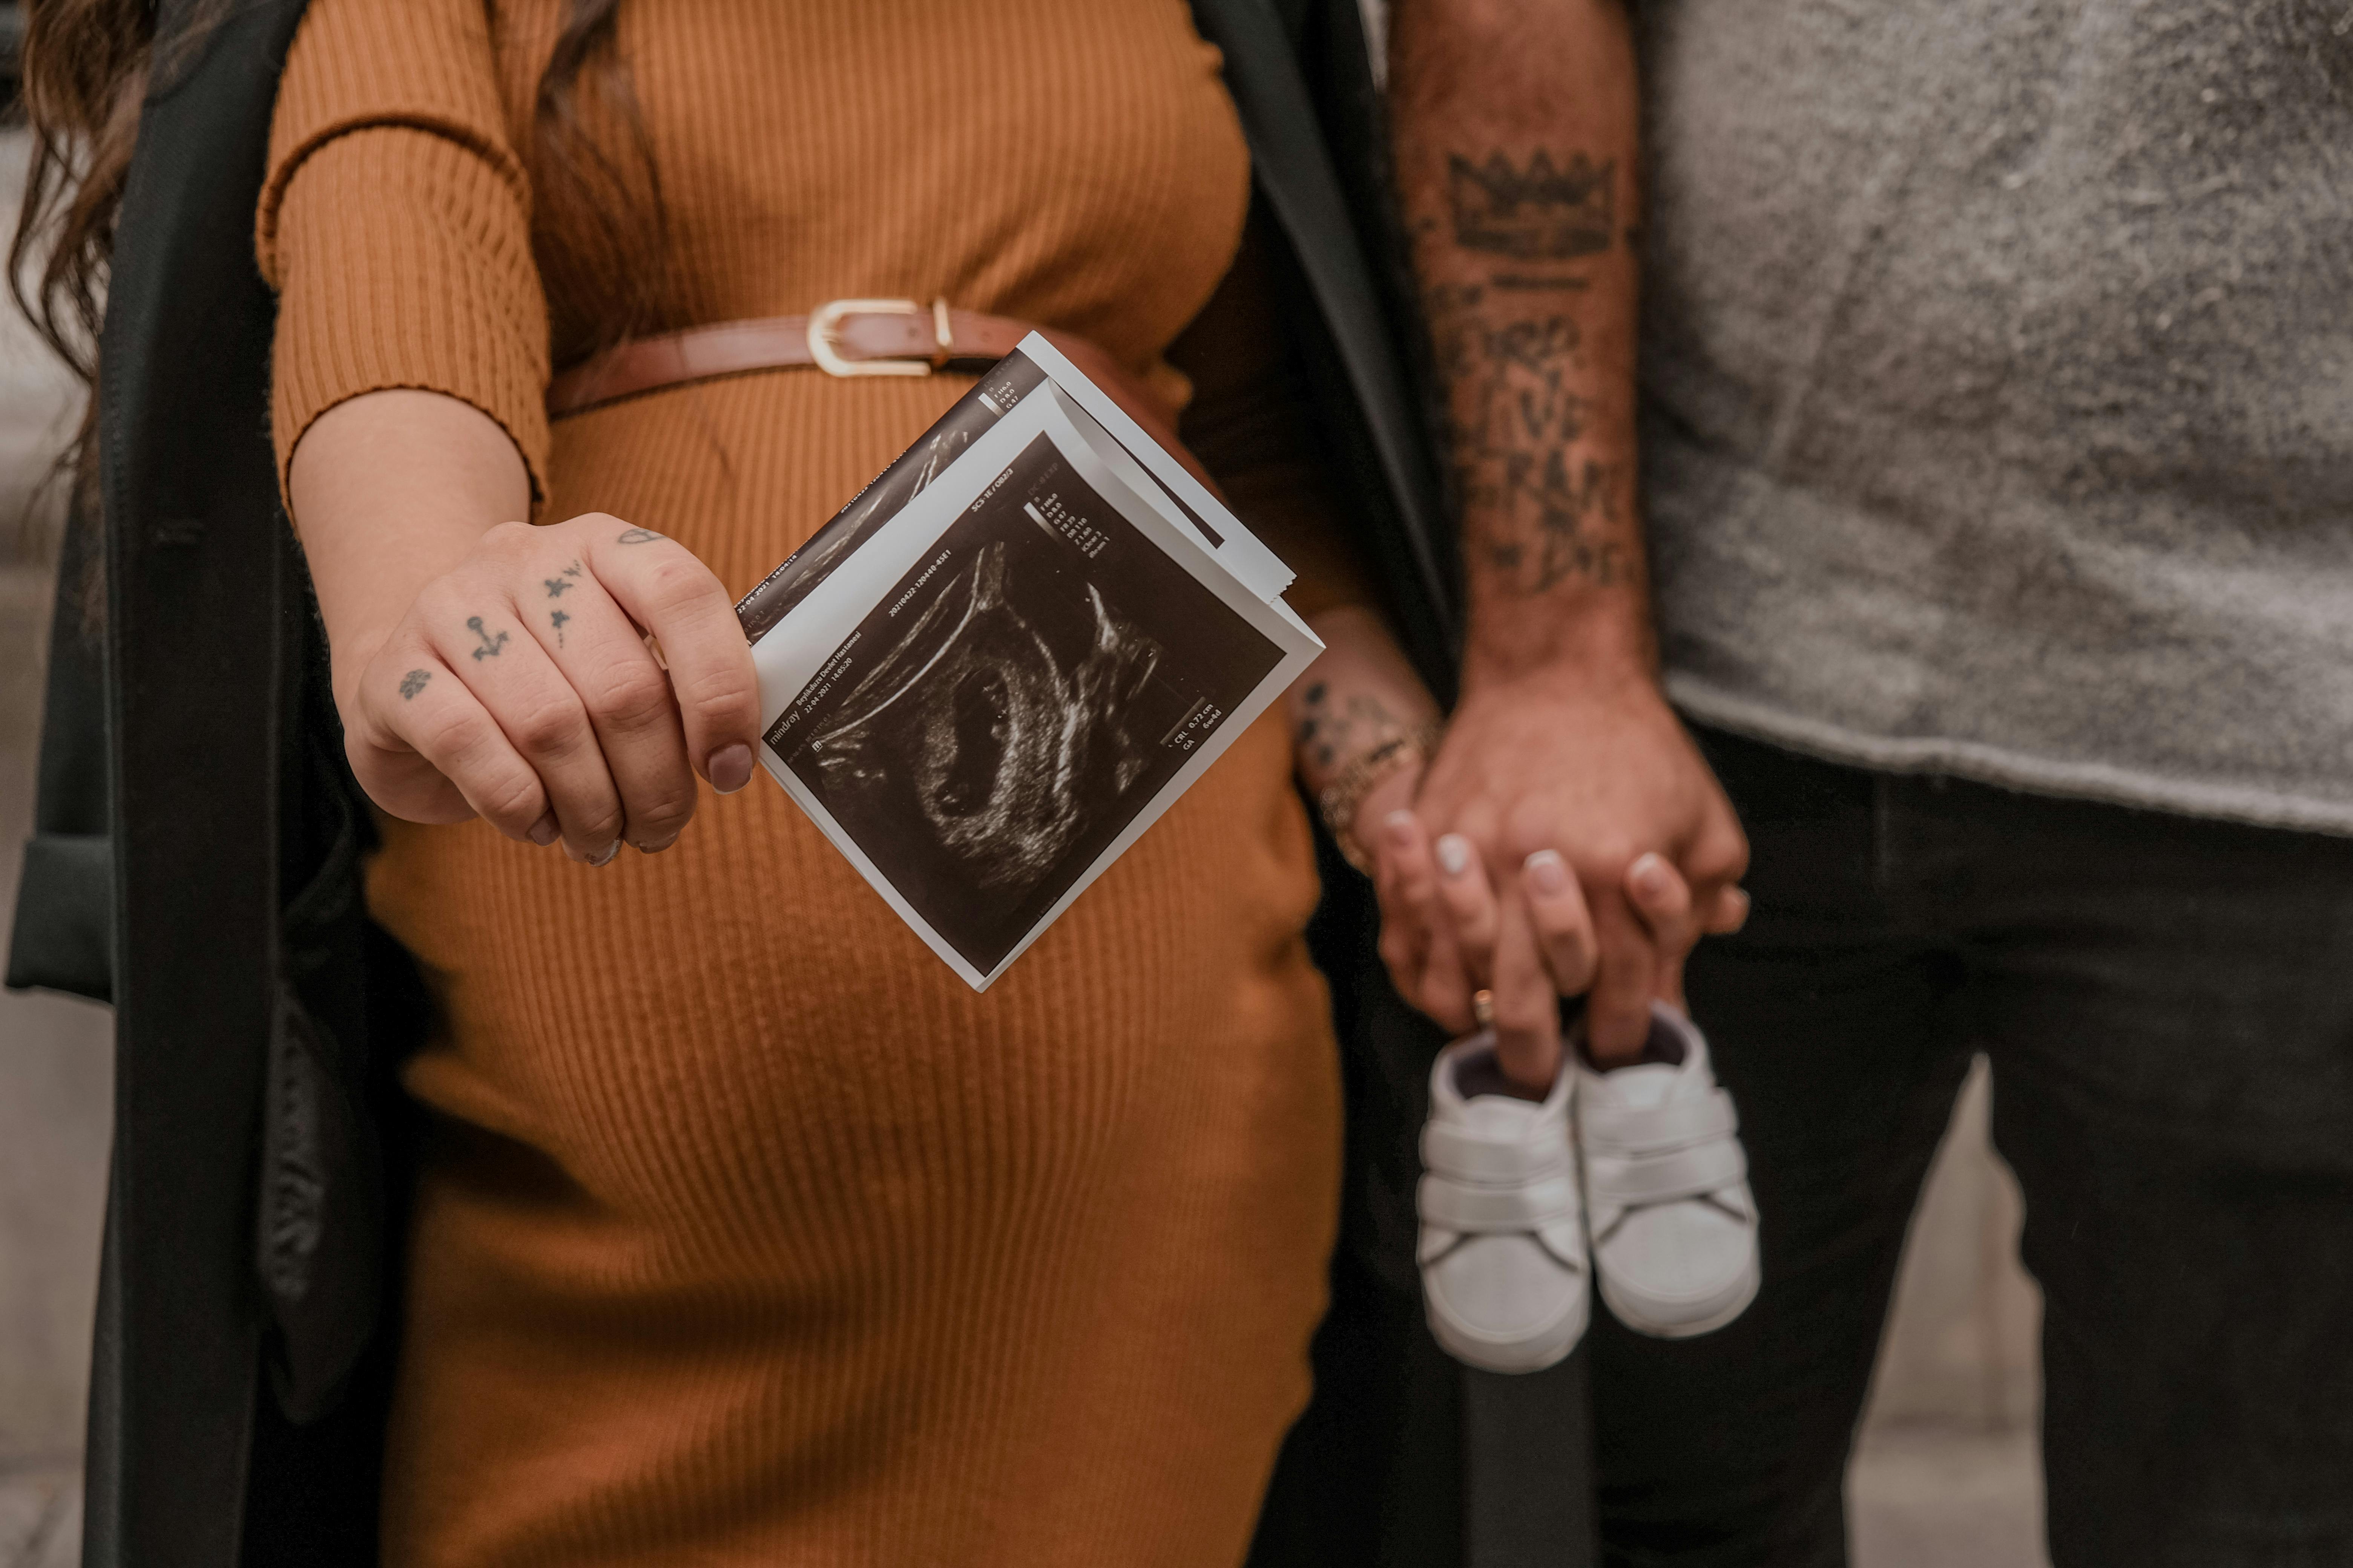
[[[334,689],[351,682],[416,602],[482,534],[532,510],[522,454],[499,421],[442,393],[367,393],[327,409],[287,470],[294,531]]]

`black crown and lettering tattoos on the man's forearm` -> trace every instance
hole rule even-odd
[[[1471,567],[1506,592],[1638,578],[1624,543],[1626,463],[1579,449],[1595,425],[1577,390],[1593,369],[1579,320],[1593,277],[1579,263],[1621,244],[1617,181],[1617,158],[1586,153],[1447,158],[1445,233],[1499,266],[1485,282],[1428,287],[1426,308],[1452,388],[1447,444]],[[1440,226],[1424,235],[1438,240]]]

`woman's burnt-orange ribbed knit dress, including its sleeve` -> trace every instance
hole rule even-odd
[[[967,386],[774,371],[560,421],[612,277],[534,233],[560,0],[315,0],[259,214],[280,458],[464,397],[541,517],[746,590]],[[624,0],[675,322],[948,296],[1139,374],[1235,254],[1184,0]],[[546,223],[546,219],[541,219]],[[442,1027],[386,1561],[1235,1563],[1308,1392],[1339,1173],[1275,715],[988,992],[772,780],[605,870],[386,823]]]

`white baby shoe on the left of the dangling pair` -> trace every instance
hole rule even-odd
[[[1574,1074],[1541,1103],[1504,1091],[1494,1034],[1431,1067],[1421,1128],[1421,1300],[1457,1361],[1534,1373],[1586,1333],[1586,1227],[1569,1147]]]

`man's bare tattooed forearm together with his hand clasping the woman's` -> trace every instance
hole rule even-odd
[[[1729,889],[1748,858],[1657,686],[1635,494],[1642,146],[1628,7],[1400,5],[1391,150],[1468,607],[1464,696],[1414,813],[1440,858],[1461,835],[1494,882],[1506,985],[1478,976],[1478,943],[1464,966],[1494,990],[1497,1046],[1520,1058],[1506,1072],[1548,1081],[1558,1023],[1504,1016],[1541,945],[1527,858],[1558,851],[1584,896],[1602,1060],[1640,1051],[1647,1004],[1680,994],[1697,936],[1737,924]],[[1579,990],[1577,976],[1553,983]]]

